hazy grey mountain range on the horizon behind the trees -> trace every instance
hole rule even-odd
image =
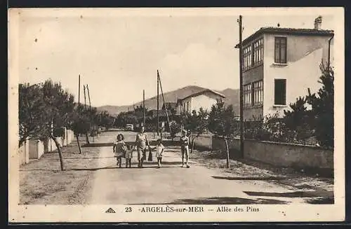
[[[173,90],[170,92],[164,93],[165,102],[177,102],[178,99],[183,99],[188,95],[192,95],[194,93],[200,92],[202,90],[206,90],[208,88],[201,88],[196,85],[189,85],[184,88],[179,88],[177,90]],[[234,108],[235,114],[239,114],[239,89],[227,88],[225,90],[216,90],[216,92],[220,92],[225,95],[225,104],[232,104]],[[162,97],[159,95],[159,107],[163,105]],[[133,111],[133,106],[140,106],[143,102],[138,102],[136,104],[131,104],[127,106],[98,106],[98,111],[108,111],[112,116],[117,116],[118,113]],[[151,97],[149,99],[145,99],[145,107],[148,110],[157,109],[157,96]]]

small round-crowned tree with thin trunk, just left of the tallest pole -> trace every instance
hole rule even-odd
[[[225,139],[225,146],[227,148],[227,168],[230,167],[227,139],[234,134],[236,126],[234,118],[235,114],[233,106],[225,106],[222,99],[218,99],[217,103],[211,107],[208,116],[208,130]]]

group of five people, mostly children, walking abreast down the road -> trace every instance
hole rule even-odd
[[[141,127],[141,130],[137,134],[135,139],[135,146],[131,146],[126,144],[126,142],[124,141],[123,134],[118,134],[117,140],[114,141],[113,144],[113,152],[114,157],[117,158],[117,166],[121,167],[122,158],[125,158],[126,168],[131,168],[133,151],[135,151],[136,147],[138,152],[138,167],[143,167],[143,162],[144,160],[146,160],[147,146],[150,149],[150,151],[156,151],[157,165],[158,168],[160,168],[164,153],[164,145],[162,144],[161,139],[157,139],[157,146],[151,148],[149,141],[147,141],[147,135],[144,132],[144,127]],[[189,168],[189,137],[186,136],[186,131],[183,131],[182,137],[180,137],[180,146],[182,151],[182,167]]]

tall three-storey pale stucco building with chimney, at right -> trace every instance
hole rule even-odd
[[[322,17],[313,29],[262,27],[242,48],[244,120],[283,116],[307,88],[314,93],[322,87],[319,65],[333,64],[333,31],[322,29]]]

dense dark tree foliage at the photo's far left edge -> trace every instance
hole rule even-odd
[[[20,142],[28,137],[46,139],[51,130],[69,125],[74,97],[51,79],[35,85],[19,85]],[[53,125],[53,126],[51,126]]]

